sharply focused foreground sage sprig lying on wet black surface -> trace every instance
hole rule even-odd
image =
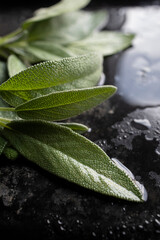
[[[88,73],[84,60],[88,63]],[[8,66],[12,72],[13,64],[10,65],[10,61]],[[72,70],[65,72],[73,62],[74,77]],[[95,77],[97,82],[101,75],[101,64],[101,57],[96,53],[70,57],[26,68],[2,83],[2,96],[5,91],[12,102],[12,94],[15,94],[23,103],[17,101],[15,107],[0,108],[2,116],[8,111],[17,118],[0,119],[0,150],[10,159],[19,153],[45,170],[88,189],[131,201],[144,201],[144,188],[126,172],[126,168],[118,166],[96,144],[79,134],[88,129],[86,126],[59,122],[100,104],[116,91],[114,86],[55,91],[54,86],[61,86],[68,81],[71,83],[76,79],[78,81],[83,77],[85,79],[91,72],[92,77],[98,72]],[[18,71],[19,66],[24,67],[21,64],[17,66]],[[32,91],[38,92],[44,87],[46,95],[40,92],[41,96],[33,98]],[[24,96],[29,97],[27,99]]]

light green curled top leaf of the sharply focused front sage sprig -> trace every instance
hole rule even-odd
[[[0,86],[0,95],[17,106],[43,94],[56,91],[61,84],[78,81],[82,87],[95,85],[102,71],[102,56],[96,53],[47,61],[14,75]],[[76,88],[74,84],[74,88]],[[55,88],[55,90],[54,90]],[[57,89],[59,91],[61,89]]]

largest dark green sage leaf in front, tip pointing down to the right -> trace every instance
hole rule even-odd
[[[69,128],[45,121],[13,121],[2,134],[25,158],[82,187],[118,198],[142,202],[144,188],[136,184],[96,144]]]

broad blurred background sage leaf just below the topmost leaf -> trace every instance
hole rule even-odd
[[[106,24],[108,15],[104,10],[75,11],[32,24],[27,41],[68,44],[88,37]],[[43,29],[43,31],[42,31]],[[53,45],[52,43],[52,45]],[[43,47],[43,45],[42,45]]]

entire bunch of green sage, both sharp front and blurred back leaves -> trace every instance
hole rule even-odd
[[[0,61],[0,154],[9,159],[20,154],[85,188],[141,202],[143,186],[81,135],[88,127],[63,121],[115,93],[114,86],[97,86],[103,56],[125,49],[134,37],[100,31],[106,12],[79,10],[88,3],[63,0],[39,9],[0,38],[6,59]]]

